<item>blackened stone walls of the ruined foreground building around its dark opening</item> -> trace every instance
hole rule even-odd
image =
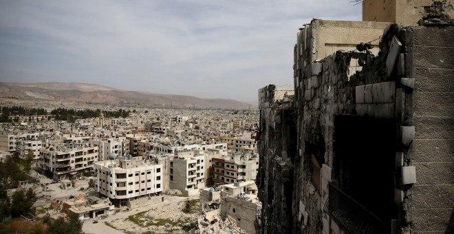
[[[392,162],[385,165],[392,169],[383,175],[391,177],[386,186],[394,191],[386,193],[391,197],[386,204],[396,205],[396,214],[385,215],[389,220],[383,228],[392,233],[453,231],[453,38],[452,26],[393,24],[382,34],[380,56],[338,51],[315,63],[308,56],[312,45],[301,52],[304,39],[298,39],[294,96],[275,100],[274,85],[259,89],[262,233],[342,233],[323,209],[328,182],[342,180],[334,163],[345,157],[334,150],[336,116],[396,124],[387,146]],[[353,58],[364,65],[347,75]],[[380,134],[381,129],[373,131]],[[320,154],[319,184],[312,172],[314,152]],[[360,167],[374,167],[374,161]]]

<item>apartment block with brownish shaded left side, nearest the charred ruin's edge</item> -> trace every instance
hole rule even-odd
[[[212,158],[213,182],[230,184],[255,180],[259,169],[257,154],[234,153],[230,156]]]

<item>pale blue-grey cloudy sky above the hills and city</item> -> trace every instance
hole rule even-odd
[[[256,102],[293,87],[303,24],[361,14],[349,0],[0,0],[0,82]]]

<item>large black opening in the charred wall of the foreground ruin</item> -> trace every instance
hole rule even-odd
[[[334,119],[334,174],[337,186],[389,224],[394,204],[396,123],[359,116]]]

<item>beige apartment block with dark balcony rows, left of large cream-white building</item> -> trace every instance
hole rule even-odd
[[[72,179],[98,161],[98,147],[88,143],[50,145],[41,149],[39,167],[55,180]]]

